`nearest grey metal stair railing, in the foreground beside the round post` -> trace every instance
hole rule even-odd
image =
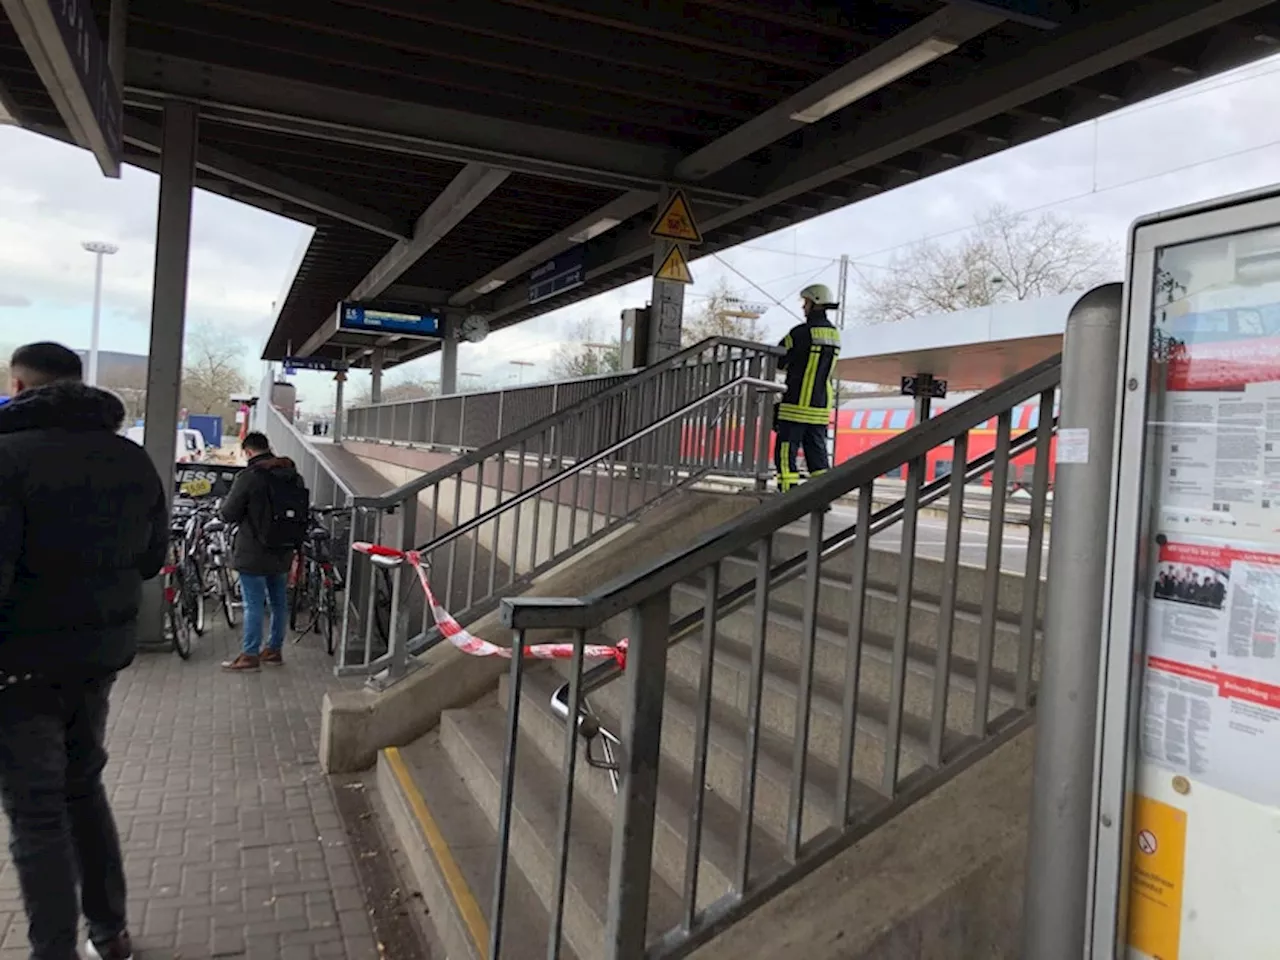
[[[1061,358],[1046,360],[1010,378],[1002,384],[927,420],[828,474],[810,480],[797,490],[772,498],[745,516],[712,530],[687,549],[675,552],[658,562],[635,571],[585,598],[513,596],[503,600],[504,621],[515,631],[515,644],[525,643],[527,631],[571,632],[575,657],[570,664],[568,685],[561,714],[582,717],[588,680],[582,650],[589,634],[595,634],[608,621],[626,616],[630,646],[626,699],[621,717],[621,736],[616,744],[616,773],[620,790],[614,809],[614,845],[611,863],[609,919],[604,960],[654,960],[680,957],[718,931],[776,895],[799,877],[849,847],[910,803],[934,790],[941,782],[974,763],[998,744],[1023,730],[1030,719],[1033,700],[1036,635],[1041,594],[1041,564],[1044,539],[1044,513],[1048,498],[1051,443],[1053,435],[1053,396],[1061,379]],[[1038,425],[1016,440],[1012,435],[1012,411],[1029,399],[1039,401]],[[989,458],[968,463],[970,433],[984,424],[995,424],[995,448]],[[941,447],[952,449],[950,460],[965,463],[965,481],[986,474],[991,479],[991,515],[986,531],[986,568],[982,579],[980,617],[977,649],[973,654],[973,709],[956,718],[952,709],[952,640],[957,607],[957,584],[961,579],[964,548],[965,483],[942,477],[925,485],[928,454]],[[1020,456],[1034,458],[1030,522],[1025,545],[1021,588],[1002,576],[1005,543],[1005,507],[1009,492],[1010,463]],[[908,468],[906,493],[900,504],[876,512],[873,492],[876,480],[900,467]],[[856,521],[828,536],[828,508],[841,497],[856,494]],[[927,726],[915,730],[925,744],[924,759],[915,753],[908,758],[904,741],[908,733],[905,699],[909,653],[918,645],[913,636],[911,598],[916,595],[914,562],[920,507],[947,497],[945,558],[941,581],[936,585],[937,636],[933,643],[932,709]],[[838,518],[837,515],[831,515]],[[806,547],[788,558],[780,570],[774,564],[776,535],[804,522]],[[835,521],[832,521],[835,522]],[[901,529],[900,561],[896,571],[896,595],[887,703],[879,710],[876,727],[883,745],[882,754],[867,760],[865,737],[870,728],[863,716],[869,704],[860,703],[860,669],[863,667],[864,620],[868,589],[874,586],[870,568],[870,543],[877,531],[890,524]],[[742,582],[728,582],[726,562],[749,553],[754,559],[754,576]],[[838,760],[835,764],[832,804],[815,806],[810,791],[810,730],[813,723],[814,667],[817,635],[820,621],[819,588],[824,568],[838,573],[850,585],[851,609],[845,649],[844,694],[838,721]],[[780,582],[774,581],[774,572]],[[776,837],[777,852],[767,858],[758,854],[768,832],[758,818],[758,764],[762,750],[762,714],[767,639],[771,631],[771,594],[787,577],[801,580],[801,654],[795,681],[795,718],[792,726],[791,781],[786,796],[787,814]],[[672,623],[672,590],[691,579],[704,586],[701,609]],[[722,591],[722,586],[728,586]],[[1021,590],[1020,622],[1016,649],[1001,649],[1012,660],[1012,704],[993,710],[993,684],[997,680],[997,620],[1002,604],[1011,603]],[[707,787],[709,733],[713,719],[713,682],[718,621],[733,604],[751,603],[754,639],[750,644],[749,680],[746,684],[746,740],[742,745],[742,767],[737,796],[737,844],[731,883],[726,892],[707,902],[700,890],[701,840]],[[701,639],[701,671],[695,699],[696,730],[694,733],[690,815],[687,826],[686,863],[681,893],[681,915],[669,929],[650,929],[650,878],[654,870],[654,831],[657,814],[658,767],[663,744],[666,708],[667,658],[675,637],[698,635]],[[498,865],[495,901],[492,916],[489,956],[502,957],[502,904],[509,856],[509,824],[513,809],[516,736],[520,728],[521,684],[525,663],[512,658],[507,694],[507,731],[504,777],[499,801]],[[611,671],[593,673],[591,684],[607,682]],[[998,705],[998,704],[995,704]],[[955,730],[960,723],[963,731]],[[552,924],[548,956],[559,952],[559,918],[564,910],[567,877],[566,854],[572,824],[573,783],[577,777],[576,758],[580,739],[593,733],[582,722],[566,724],[564,765],[561,772],[559,865],[550,904]],[[856,759],[863,776],[855,776]],[[868,763],[874,776],[868,774]],[[870,777],[870,782],[868,782]],[[768,847],[765,847],[768,849]]]

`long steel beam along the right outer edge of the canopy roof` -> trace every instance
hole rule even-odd
[[[801,150],[760,168],[750,182],[732,189],[756,200],[733,210],[694,204],[703,236],[762,214],[809,191],[963,131],[1024,104],[1185,37],[1212,29],[1267,6],[1272,0],[1161,0],[1158,4],[1116,10],[1060,35],[1027,52],[984,69],[945,90],[928,91],[892,114],[840,132],[836,124],[814,124]],[[708,238],[714,246],[714,238]],[[588,246],[588,282],[653,256],[649,224],[616,230]],[[557,300],[548,308],[563,306]],[[492,319],[518,312],[527,291],[516,287],[497,293],[485,306]]]

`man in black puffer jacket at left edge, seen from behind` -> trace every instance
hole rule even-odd
[[[102,788],[108,698],[137,646],[142,581],[169,535],[146,452],[119,435],[124,404],[81,383],[55,343],[10,361],[0,407],[0,800],[32,957],[132,956],[124,869]],[[77,893],[79,886],[81,892]]]

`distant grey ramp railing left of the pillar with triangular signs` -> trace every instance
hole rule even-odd
[[[632,376],[635,372],[627,371],[351,407],[343,431],[352,440],[476,449]]]

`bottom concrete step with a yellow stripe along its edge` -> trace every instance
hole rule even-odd
[[[484,960],[493,919],[498,835],[440,745],[438,732],[401,748],[398,755],[399,768],[387,751],[379,754],[378,800],[445,950],[439,960]],[[507,874],[504,913],[507,929],[521,933],[507,937],[503,956],[544,960],[547,910],[518,865]],[[561,956],[576,960],[577,954],[564,947]]]

